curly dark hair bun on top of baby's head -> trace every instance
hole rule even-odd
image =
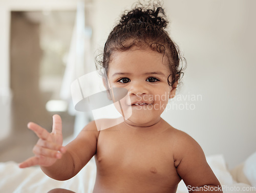
[[[146,23],[164,29],[168,24],[168,21],[165,18],[164,10],[159,4],[154,4],[152,6],[148,5],[148,7],[138,4],[135,9],[126,12],[121,16],[120,24]]]

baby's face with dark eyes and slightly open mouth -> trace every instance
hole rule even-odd
[[[125,88],[129,97],[121,100],[123,113],[132,109],[127,123],[150,126],[160,120],[175,89],[167,82],[170,74],[167,57],[151,49],[133,48],[115,52],[109,63],[111,88]]]

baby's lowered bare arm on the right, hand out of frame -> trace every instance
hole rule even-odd
[[[221,184],[206,162],[201,146],[181,132],[174,154],[179,176],[191,192],[222,192]]]

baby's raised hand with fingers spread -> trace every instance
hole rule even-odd
[[[51,166],[66,152],[66,148],[62,146],[62,124],[59,115],[53,116],[52,133],[32,122],[28,123],[28,128],[35,132],[39,140],[33,148],[35,156],[20,163],[20,168],[33,165]]]

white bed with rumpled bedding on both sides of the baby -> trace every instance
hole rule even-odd
[[[208,156],[207,162],[222,184],[224,193],[256,193],[256,152],[231,171],[227,169],[223,155]],[[38,166],[20,169],[17,163],[10,161],[0,163],[0,192],[42,193],[54,188],[65,188],[77,193],[91,193],[95,177],[94,158],[75,177],[67,181],[56,181],[47,177]],[[177,193],[187,192],[181,181]]]

